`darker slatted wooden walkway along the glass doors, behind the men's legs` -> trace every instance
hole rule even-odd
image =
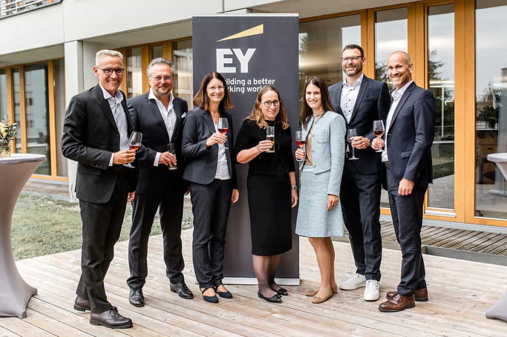
[[[382,226],[382,241],[395,242],[396,234],[394,233],[392,222],[380,221],[380,224]],[[345,238],[337,238],[337,240],[348,242],[347,236]],[[421,242],[423,246],[436,246],[507,256],[507,234],[423,226],[421,230]]]

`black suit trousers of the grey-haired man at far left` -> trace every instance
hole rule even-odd
[[[119,172],[113,195],[105,204],[79,201],[83,245],[82,274],[76,294],[89,299],[94,313],[113,309],[105,295],[104,277],[114,257],[114,245],[120,238],[127,206],[129,177],[127,170]]]

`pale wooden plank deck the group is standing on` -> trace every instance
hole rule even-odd
[[[424,232],[430,230],[437,231]],[[127,242],[116,245],[106,290],[111,303],[134,322],[133,328],[125,330],[90,325],[89,314],[73,310],[80,276],[79,250],[18,261],[21,275],[39,294],[30,300],[26,319],[0,318],[0,337],[507,336],[507,323],[487,320],[484,315],[507,290],[507,267],[424,255],[430,301],[417,303],[414,309],[381,313],[377,310],[380,301],[363,301],[363,289],[340,290],[328,302],[313,305],[304,293],[318,285],[318,267],[308,241],[301,239],[301,285],[287,287],[290,295],[283,297],[283,304],[259,299],[256,286],[231,285],[228,288],[234,298],[213,305],[203,301],[194,284],[191,235],[191,230],[182,233],[184,272],[195,298],[182,299],[169,292],[162,239],[154,236],[150,238],[149,277],[143,288],[146,306],[141,308],[128,303]],[[354,272],[353,259],[347,243],[334,245],[336,276],[341,280]],[[382,298],[399,281],[400,265],[400,251],[384,249]]]

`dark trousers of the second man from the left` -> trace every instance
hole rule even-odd
[[[136,194],[132,202],[132,228],[128,244],[130,288],[142,288],[148,276],[148,239],[153,220],[160,206],[160,228],[164,242],[166,275],[171,283],[183,282],[185,263],[182,254],[183,191],[181,178],[174,184],[164,186],[161,195]]]

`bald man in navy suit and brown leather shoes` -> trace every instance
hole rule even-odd
[[[412,81],[410,56],[401,51],[387,60],[389,79],[395,85],[387,115],[385,164],[387,192],[396,239],[402,248],[402,275],[396,291],[387,293],[382,312],[413,308],[415,301],[428,301],[424,261],[421,254],[421,227],[424,194],[432,182],[436,102],[431,92]],[[375,139],[372,147],[384,145]]]

